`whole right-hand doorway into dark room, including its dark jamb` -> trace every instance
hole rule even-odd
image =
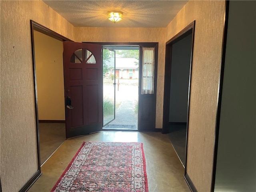
[[[186,166],[194,22],[166,43],[163,132]]]

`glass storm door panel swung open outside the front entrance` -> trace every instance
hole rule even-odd
[[[103,61],[103,126],[115,119],[116,52],[102,49]]]

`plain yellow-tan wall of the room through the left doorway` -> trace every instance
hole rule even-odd
[[[34,31],[39,120],[65,120],[63,42]]]

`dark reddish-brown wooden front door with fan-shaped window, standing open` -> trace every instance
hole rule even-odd
[[[66,138],[102,130],[102,46],[63,42]]]

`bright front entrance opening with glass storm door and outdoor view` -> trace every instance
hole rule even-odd
[[[103,46],[103,129],[138,130],[139,46]]]

